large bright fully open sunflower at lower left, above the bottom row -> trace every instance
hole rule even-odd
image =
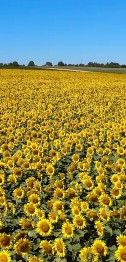
[[[48,236],[52,233],[53,226],[48,219],[41,219],[37,223],[37,233],[41,236]]]

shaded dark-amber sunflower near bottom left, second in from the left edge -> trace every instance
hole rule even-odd
[[[31,242],[26,238],[19,239],[14,245],[14,251],[18,255],[26,255],[31,249]]]

